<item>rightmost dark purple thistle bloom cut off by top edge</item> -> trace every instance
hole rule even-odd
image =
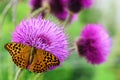
[[[91,7],[93,0],[68,0],[68,9],[73,13],[78,13],[82,8]]]

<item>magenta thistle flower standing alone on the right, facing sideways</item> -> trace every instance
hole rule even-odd
[[[106,61],[110,53],[111,39],[103,26],[88,24],[83,28],[76,45],[79,55],[89,63],[100,64]]]

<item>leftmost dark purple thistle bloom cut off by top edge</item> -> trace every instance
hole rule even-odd
[[[42,7],[43,0],[30,0],[30,5],[32,6],[32,11]]]

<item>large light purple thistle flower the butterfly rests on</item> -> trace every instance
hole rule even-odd
[[[41,18],[23,20],[13,32],[12,42],[49,51],[60,60],[60,63],[69,55],[67,37],[63,29]]]

